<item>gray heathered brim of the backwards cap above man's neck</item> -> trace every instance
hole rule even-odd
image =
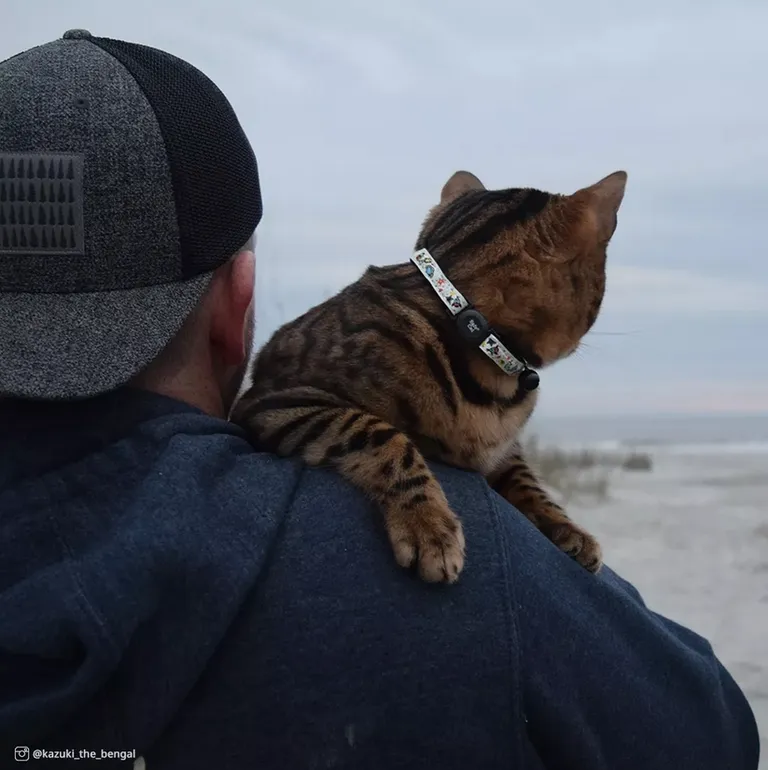
[[[125,385],[178,332],[212,275],[89,294],[0,293],[0,394],[87,398]]]

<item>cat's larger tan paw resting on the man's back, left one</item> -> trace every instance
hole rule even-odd
[[[428,583],[455,583],[464,567],[464,532],[445,504],[425,503],[390,515],[387,529],[401,567],[417,565]]]

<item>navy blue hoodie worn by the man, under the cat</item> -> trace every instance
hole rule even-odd
[[[704,639],[434,469],[454,586],[334,472],[191,406],[0,401],[0,767],[755,770]]]

